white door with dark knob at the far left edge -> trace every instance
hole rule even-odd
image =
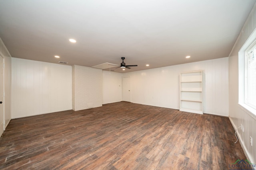
[[[0,136],[4,132],[4,59],[0,55]]]

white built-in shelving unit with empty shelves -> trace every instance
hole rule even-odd
[[[180,73],[180,111],[203,114],[203,72]]]

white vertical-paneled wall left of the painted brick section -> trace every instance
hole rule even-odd
[[[12,58],[12,118],[72,109],[72,67]]]

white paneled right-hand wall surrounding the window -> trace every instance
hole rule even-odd
[[[254,5],[252,12],[248,16],[229,57],[230,121],[235,129],[241,123],[244,126],[244,132],[239,128],[237,134],[247,158],[252,163],[256,163],[256,116],[251,115],[238,105],[238,51],[246,43],[255,29],[256,5]],[[253,146],[250,145],[250,136],[253,138]]]

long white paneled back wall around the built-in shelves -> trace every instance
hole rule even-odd
[[[228,57],[124,73],[131,102],[179,109],[179,74],[203,70],[204,113],[228,116]]]

